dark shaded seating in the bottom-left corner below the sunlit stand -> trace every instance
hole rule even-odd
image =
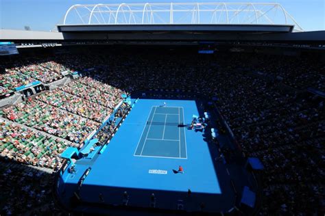
[[[1,215],[48,215],[58,213],[53,205],[53,175],[23,165],[2,162],[0,166]],[[47,206],[47,208],[40,208]],[[44,210],[40,210],[44,209]]]

